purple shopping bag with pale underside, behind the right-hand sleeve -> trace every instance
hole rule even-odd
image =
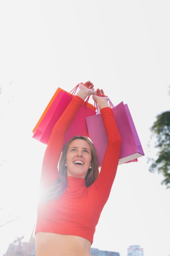
[[[112,109],[122,139],[119,164],[124,164],[144,155],[137,131],[127,104],[119,103]],[[98,155],[99,166],[107,148],[107,135],[101,115],[86,118],[89,137]],[[114,156],[113,156],[114,157]]]

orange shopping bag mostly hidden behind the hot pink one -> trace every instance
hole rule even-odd
[[[81,83],[81,84],[83,84],[83,83]],[[78,85],[79,85],[79,84],[78,84]],[[36,130],[37,130],[39,124],[41,123],[41,121],[42,121],[43,118],[45,117],[46,113],[48,112],[50,106],[52,105],[52,103],[53,103],[54,100],[56,99],[56,97],[57,97],[57,95],[59,94],[59,92],[60,92],[60,91],[66,92],[66,93],[67,93],[68,95],[70,95],[71,97],[74,97],[74,94],[76,93],[76,90],[77,90],[77,88],[78,88],[78,85],[76,85],[76,86],[71,90],[71,92],[67,92],[67,91],[63,90],[62,88],[60,88],[60,87],[57,88],[56,92],[55,92],[54,95],[52,96],[52,99],[50,100],[50,102],[49,102],[48,105],[46,106],[44,112],[42,113],[42,115],[41,115],[41,117],[39,118],[39,120],[38,120],[36,126],[34,127],[33,133],[36,132]],[[94,106],[93,106],[92,104],[90,104],[90,103],[87,103],[87,108],[90,108],[90,109],[94,110]]]

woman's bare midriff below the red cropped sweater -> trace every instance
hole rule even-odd
[[[80,236],[36,234],[36,256],[91,256],[91,242]]]

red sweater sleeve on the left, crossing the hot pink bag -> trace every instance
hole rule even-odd
[[[47,189],[48,186],[58,178],[57,165],[63,148],[64,135],[82,103],[83,99],[74,96],[52,129],[42,163],[40,179],[42,190]]]

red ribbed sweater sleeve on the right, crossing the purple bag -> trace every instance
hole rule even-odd
[[[120,156],[121,137],[114,119],[113,111],[110,108],[102,108],[100,114],[105,126],[108,144],[100,174],[94,184],[100,193],[100,199],[102,199],[105,204],[109,198],[111,187],[116,176]]]

